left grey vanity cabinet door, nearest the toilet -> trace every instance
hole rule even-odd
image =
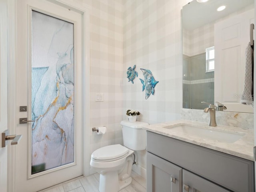
[[[147,152],[147,192],[181,192],[182,168]]]

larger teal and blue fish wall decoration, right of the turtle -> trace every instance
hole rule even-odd
[[[154,95],[154,88],[159,81],[156,81],[152,75],[152,72],[148,69],[140,69],[143,72],[144,80],[140,79],[143,84],[142,91],[146,90],[145,99],[149,98],[150,94]]]

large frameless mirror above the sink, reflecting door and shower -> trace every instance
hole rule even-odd
[[[217,11],[220,6],[226,6]],[[182,8],[183,108],[201,102],[224,104],[233,112],[253,112],[241,104],[254,0],[193,0]]]

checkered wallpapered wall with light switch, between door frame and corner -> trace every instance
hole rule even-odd
[[[102,146],[122,144],[120,122],[123,98],[123,2],[122,0],[89,2],[91,6],[90,125],[107,127],[104,135],[91,132],[92,153]],[[103,94],[103,102],[95,102],[98,93]]]

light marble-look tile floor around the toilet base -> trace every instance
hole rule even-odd
[[[100,174],[78,177],[39,192],[99,192]],[[132,171],[132,183],[120,192],[146,192],[146,180]]]

